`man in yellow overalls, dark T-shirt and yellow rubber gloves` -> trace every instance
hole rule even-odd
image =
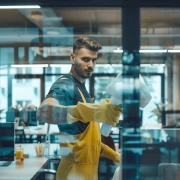
[[[96,180],[100,154],[119,163],[120,154],[101,143],[99,122],[115,126],[121,108],[108,100],[93,104],[85,88],[85,80],[91,77],[101,45],[89,37],[75,39],[70,55],[71,70],[51,87],[39,107],[40,122],[58,124],[60,132],[70,135],[74,141],[60,144],[60,149],[71,148],[61,156],[57,180]]]

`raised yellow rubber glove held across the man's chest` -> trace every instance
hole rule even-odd
[[[68,107],[67,121],[69,123],[96,121],[115,126],[119,122],[121,112],[121,108],[110,104],[109,100],[103,100],[99,104],[78,102],[76,106]]]

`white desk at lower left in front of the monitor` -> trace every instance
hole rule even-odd
[[[37,157],[34,144],[22,145],[25,154],[29,154],[29,158],[25,158],[23,162],[13,161],[9,166],[0,167],[0,180],[33,180],[38,175],[38,171],[45,168],[48,164],[48,158]],[[56,144],[51,144],[50,154]]]

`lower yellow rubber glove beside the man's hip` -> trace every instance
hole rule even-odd
[[[120,163],[120,153],[114,151],[109,146],[105,146],[101,156],[111,159],[115,164],[119,165]]]

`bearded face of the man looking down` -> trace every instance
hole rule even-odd
[[[71,54],[74,72],[83,79],[91,77],[97,56],[96,51],[90,51],[86,48],[81,48],[75,54]]]

